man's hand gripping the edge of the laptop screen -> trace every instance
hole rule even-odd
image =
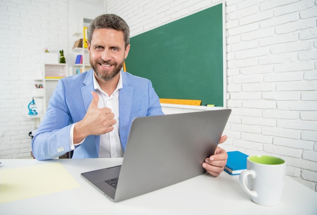
[[[227,136],[224,135],[220,138],[219,144],[226,141]],[[227,163],[228,154],[224,149],[217,147],[215,154],[205,159],[203,167],[213,176],[218,176],[224,169]]]

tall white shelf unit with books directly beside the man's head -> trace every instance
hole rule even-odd
[[[77,74],[77,69],[79,71],[87,71],[91,69],[91,65],[89,63],[89,53],[88,49],[84,48],[84,38],[87,38],[87,34],[85,33],[84,28],[89,27],[90,23],[93,21],[93,19],[88,19],[88,18],[81,18],[79,20],[78,26],[80,29],[78,29],[78,32],[73,34],[73,37],[77,37],[77,40],[83,39],[83,45],[82,47],[77,47],[74,48],[73,51],[76,53],[76,55],[83,55],[83,63],[82,64],[73,64],[73,74]],[[84,37],[85,34],[85,37]]]

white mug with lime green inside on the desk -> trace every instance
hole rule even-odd
[[[286,163],[281,158],[249,156],[247,170],[240,174],[239,181],[253,202],[263,206],[275,206],[280,202],[283,193],[285,173]]]

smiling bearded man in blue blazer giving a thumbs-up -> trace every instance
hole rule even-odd
[[[92,69],[59,80],[32,139],[37,160],[70,151],[72,158],[123,157],[132,120],[163,115],[151,82],[122,71],[130,50],[127,23],[105,14],[91,23],[88,32]],[[227,153],[217,148],[203,167],[217,176],[226,160]]]

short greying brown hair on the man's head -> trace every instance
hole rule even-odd
[[[95,29],[109,28],[123,32],[126,48],[130,44],[130,29],[125,20],[115,14],[103,14],[96,17],[88,28],[88,42],[91,43]]]

